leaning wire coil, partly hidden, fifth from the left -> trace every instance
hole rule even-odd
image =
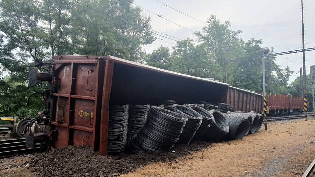
[[[198,112],[202,116],[202,123],[193,136],[193,140],[201,140],[204,139],[205,133],[208,128],[210,128],[211,124],[214,122],[214,117],[213,115],[210,114],[209,111],[205,110],[202,107],[199,107],[194,104],[189,104],[188,105],[192,110]]]

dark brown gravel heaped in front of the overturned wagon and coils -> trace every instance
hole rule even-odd
[[[179,145],[170,152],[125,154],[104,157],[90,147],[68,146],[36,155],[29,162],[39,176],[119,176],[155,162],[176,162],[176,158],[202,151],[209,142]]]

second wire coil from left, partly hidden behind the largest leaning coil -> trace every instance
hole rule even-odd
[[[130,105],[127,140],[138,133],[146,122],[150,105]]]

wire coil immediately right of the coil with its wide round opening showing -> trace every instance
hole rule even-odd
[[[246,136],[250,130],[251,116],[247,113],[230,113],[225,114],[229,126],[227,139],[241,139]]]

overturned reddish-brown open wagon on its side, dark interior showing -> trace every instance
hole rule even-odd
[[[92,146],[107,155],[109,104],[226,102],[227,90],[225,83],[113,56],[54,56],[50,102],[54,147]]]

